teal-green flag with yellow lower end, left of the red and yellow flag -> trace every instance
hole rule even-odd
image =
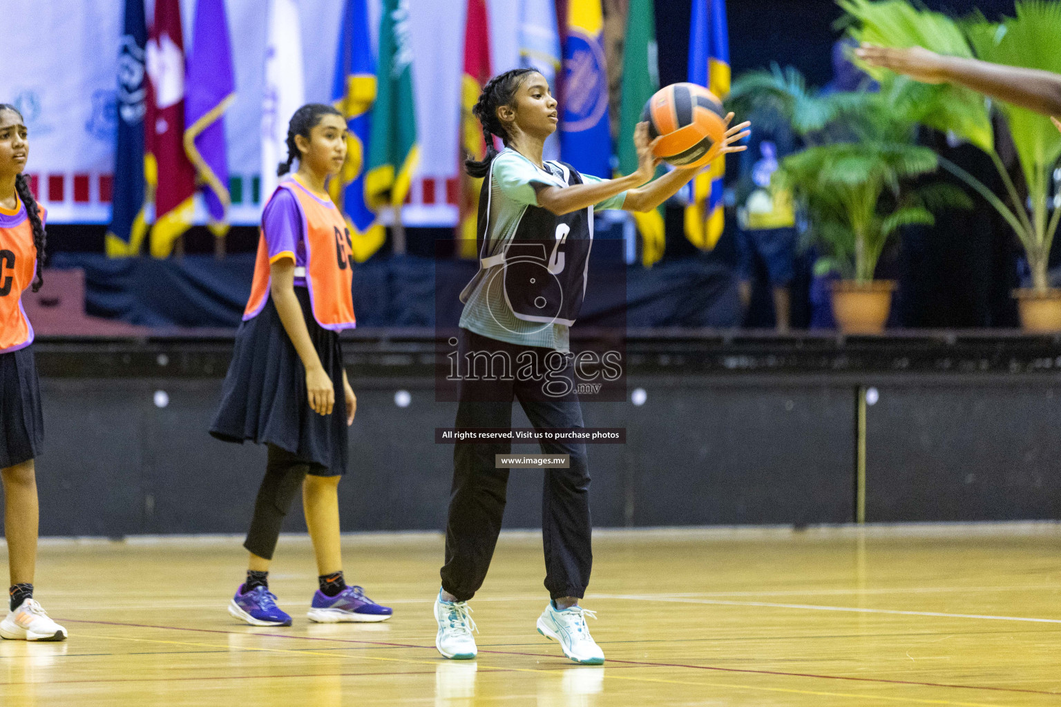
[[[376,106],[368,141],[365,201],[372,210],[400,206],[419,158],[413,103],[413,47],[410,0],[383,0]]]

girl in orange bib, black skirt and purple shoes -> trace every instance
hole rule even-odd
[[[262,213],[250,299],[236,336],[221,408],[210,434],[265,443],[268,461],[244,547],[246,581],[229,602],[251,625],[291,625],[268,590],[280,526],[299,489],[316,554],[319,588],[308,618],[321,623],[384,621],[390,608],[346,584],[340,544],[338,481],[358,399],[343,369],[338,333],[354,326],[350,232],[325,183],[343,167],[347,126],[324,104],[305,105],[288,127],[288,161],[298,171]]]

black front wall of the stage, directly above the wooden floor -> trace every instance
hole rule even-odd
[[[435,430],[456,406],[435,396],[436,332],[343,339],[343,528],[440,530],[453,447]],[[42,337],[41,531],[245,532],[264,450],[207,434],[231,346]],[[589,447],[596,526],[1061,519],[1061,338],[631,330],[625,361],[626,401],[584,404],[588,427],[626,429]],[[518,407],[512,425],[529,426]],[[506,527],[537,527],[542,473],[512,474]]]

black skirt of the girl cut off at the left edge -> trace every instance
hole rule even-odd
[[[0,469],[36,458],[44,444],[33,346],[0,354]]]

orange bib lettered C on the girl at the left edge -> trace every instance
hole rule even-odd
[[[44,222],[45,209],[38,209]],[[33,343],[33,326],[22,308],[22,291],[33,284],[36,272],[33,226],[19,200],[14,212],[0,209],[0,353]]]

